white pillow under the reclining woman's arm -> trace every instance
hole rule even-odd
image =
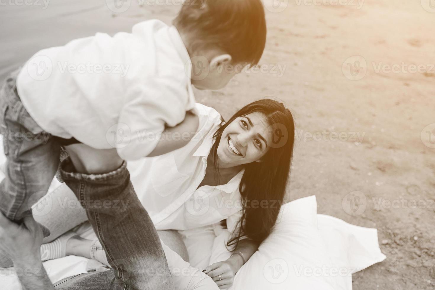
[[[228,259],[229,233],[216,237],[210,264]],[[315,196],[282,206],[271,235],[237,272],[230,290],[339,290],[345,281],[317,228]]]

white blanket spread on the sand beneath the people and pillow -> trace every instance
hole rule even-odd
[[[301,210],[304,210],[303,208]],[[320,230],[321,237],[325,242],[331,259],[335,265],[359,265],[358,269],[362,270],[369,267],[374,263],[381,262],[386,257],[381,253],[378,246],[378,233],[376,229],[357,227],[344,222],[335,217],[318,214],[318,229]],[[85,233],[84,237],[90,237],[92,233]],[[185,242],[194,244],[196,249],[189,254],[191,261],[197,260],[201,263],[198,257],[203,257],[201,264],[209,263],[210,256],[214,253],[210,252],[213,243],[210,239],[201,239],[194,243],[194,239],[187,239]],[[206,242],[208,241],[208,242]],[[201,247],[198,247],[201,245]],[[187,244],[187,248],[192,248],[192,245]],[[281,245],[284,246],[284,245]],[[205,261],[204,261],[205,260]],[[44,262],[43,265],[47,270],[50,279],[55,282],[65,277],[69,277],[78,273],[86,272],[86,265],[88,259],[83,257],[69,256],[56,260]],[[197,265],[192,264],[197,267]],[[199,266],[199,265],[198,265]],[[345,267],[345,266],[343,266]],[[0,284],[3,289],[19,290],[21,289],[18,278],[15,275],[13,268],[2,269],[3,274],[0,277]],[[345,290],[352,289],[351,277],[347,277]]]

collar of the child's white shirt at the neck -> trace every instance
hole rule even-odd
[[[184,64],[184,70],[189,80],[189,83],[187,84],[187,92],[188,92],[189,100],[186,109],[192,110],[194,109],[196,103],[195,95],[193,93],[192,83],[191,83],[192,62],[189,53],[187,52],[186,46],[184,45],[184,42],[181,39],[180,33],[178,32],[177,28],[175,26],[169,27],[168,33],[172,43],[174,43],[174,47],[177,50],[178,55],[181,58],[181,61]]]

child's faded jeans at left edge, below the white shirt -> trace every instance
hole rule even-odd
[[[33,203],[47,193],[60,156],[59,141],[44,132],[21,103],[16,86],[19,71],[11,73],[0,90],[0,126],[7,157],[0,211],[17,222],[30,215]]]

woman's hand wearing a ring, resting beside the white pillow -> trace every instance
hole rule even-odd
[[[204,273],[214,280],[219,286],[219,289],[228,289],[231,287],[234,283],[234,276],[243,266],[243,262],[233,259],[233,257],[226,261],[211,264],[204,270]],[[219,275],[221,275],[221,277],[219,277]]]

